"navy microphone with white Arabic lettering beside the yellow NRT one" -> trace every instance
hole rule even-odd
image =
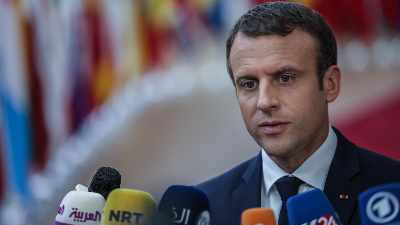
[[[173,185],[162,195],[157,216],[162,225],[209,225],[210,202],[201,189]]]

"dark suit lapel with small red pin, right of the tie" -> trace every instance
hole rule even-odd
[[[324,193],[339,215],[342,224],[348,224],[362,187],[351,181],[360,172],[358,148],[334,128],[338,145],[326,178]],[[347,195],[348,199],[341,199]]]

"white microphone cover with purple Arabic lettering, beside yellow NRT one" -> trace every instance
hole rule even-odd
[[[98,193],[70,191],[58,207],[54,225],[100,225],[104,204]]]

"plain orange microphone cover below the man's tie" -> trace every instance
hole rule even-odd
[[[242,225],[276,225],[272,209],[251,208],[242,213]]]

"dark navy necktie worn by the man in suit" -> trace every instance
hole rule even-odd
[[[301,184],[304,184],[304,182],[297,177],[282,177],[275,182],[276,189],[278,189],[280,199],[282,200],[278,225],[289,225],[286,201],[288,201],[290,197],[297,195]]]

